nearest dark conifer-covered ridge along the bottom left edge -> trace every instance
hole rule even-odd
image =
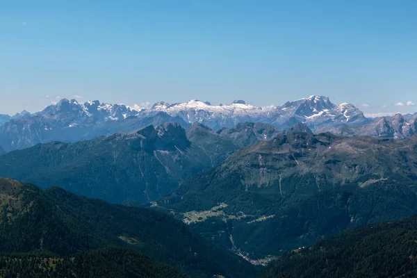
[[[0,277],[26,278],[186,277],[136,250],[120,247],[88,250],[70,258],[51,254],[3,254],[0,256],[0,273]]]

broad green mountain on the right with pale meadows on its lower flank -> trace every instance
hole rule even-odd
[[[417,138],[314,135],[302,124],[238,150],[158,204],[208,240],[265,259],[417,213]]]

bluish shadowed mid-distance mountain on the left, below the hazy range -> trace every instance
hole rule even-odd
[[[0,176],[42,188],[60,186],[113,203],[150,202],[179,183],[224,161],[240,146],[269,140],[269,124],[238,124],[213,131],[193,124],[147,126],[76,143],[51,142],[0,156]]]

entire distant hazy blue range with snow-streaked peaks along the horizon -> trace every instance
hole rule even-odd
[[[242,100],[218,106],[207,101],[191,100],[182,104],[160,102],[140,111],[124,104],[104,104],[99,101],[81,104],[75,99],[61,99],[38,113],[24,111],[1,119],[0,146],[6,152],[38,143],[77,142],[116,132],[131,132],[149,124],[165,122],[178,122],[185,128],[198,122],[211,129],[243,122],[262,122],[278,129],[287,129],[297,122],[304,122],[311,129],[338,124],[361,126],[370,122],[352,104],[336,105],[327,97],[317,96],[268,108],[245,104]]]

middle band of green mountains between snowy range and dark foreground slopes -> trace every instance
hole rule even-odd
[[[414,136],[314,133],[308,122],[286,130],[262,122],[183,126],[3,152],[0,176],[166,213],[254,267],[346,229],[417,213]],[[135,236],[116,238],[145,247]]]

